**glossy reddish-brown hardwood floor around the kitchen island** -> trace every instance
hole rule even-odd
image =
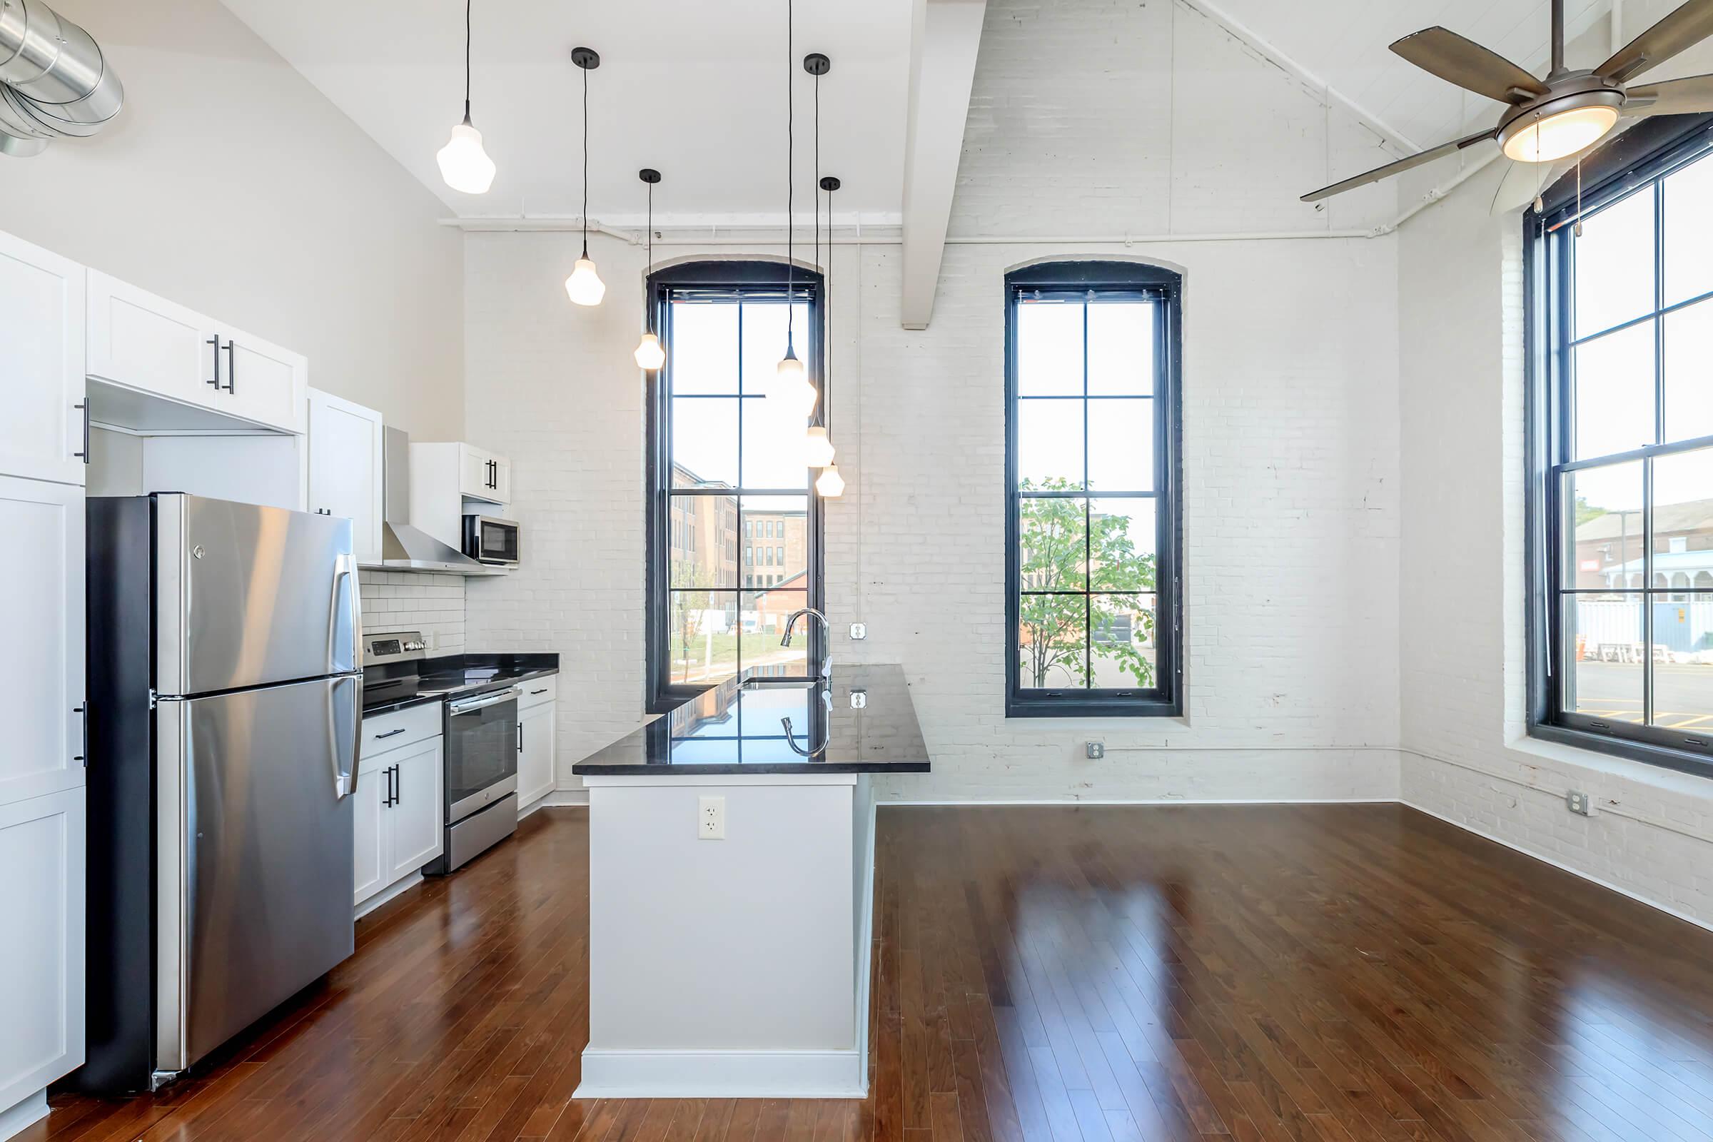
[[[572,1101],[588,822],[545,810],[206,1075],[22,1137],[1713,1139],[1713,933],[1413,810],[879,820],[862,1103]]]

